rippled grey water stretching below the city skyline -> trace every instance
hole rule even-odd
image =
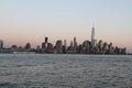
[[[0,88],[132,88],[132,56],[0,54]]]

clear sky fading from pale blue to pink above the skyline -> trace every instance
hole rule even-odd
[[[132,0],[0,0],[0,40],[41,45],[45,36],[78,43],[96,38],[132,52]]]

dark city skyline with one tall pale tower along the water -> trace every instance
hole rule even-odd
[[[0,41],[0,53],[36,53],[36,54],[129,54],[127,47],[113,46],[113,43],[107,43],[102,40],[95,38],[95,26],[91,28],[91,40],[85,40],[82,43],[78,43],[77,38],[70,41],[57,40],[55,44],[48,42],[48,37],[38,44],[35,48],[28,42],[24,46],[11,45],[11,47],[4,47],[4,43]]]

